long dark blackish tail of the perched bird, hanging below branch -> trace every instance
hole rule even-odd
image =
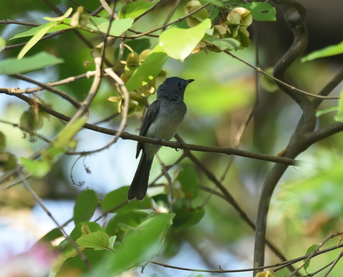
[[[149,161],[146,160],[146,154],[143,149],[141,159],[139,161],[136,173],[134,174],[132,183],[128,191],[128,201],[137,199],[142,201],[145,197],[148,188],[149,174],[153,158]]]

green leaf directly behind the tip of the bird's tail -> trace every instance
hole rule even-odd
[[[152,208],[152,203],[149,197],[145,197],[142,202],[131,201],[127,202],[127,192],[129,187],[122,186],[121,188],[109,192],[104,199],[100,202],[102,209],[107,212],[115,207],[118,209],[114,210],[113,213],[125,214],[132,212],[133,210],[139,209],[150,209]]]

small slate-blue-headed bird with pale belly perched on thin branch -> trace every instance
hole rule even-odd
[[[140,136],[162,140],[170,140],[174,137],[187,112],[184,103],[185,89],[193,81],[193,79],[171,77],[158,87],[157,99],[146,110]],[[159,148],[158,145],[138,142],[136,159],[141,150],[142,156],[128,191],[128,201],[144,199],[152,161]]]

